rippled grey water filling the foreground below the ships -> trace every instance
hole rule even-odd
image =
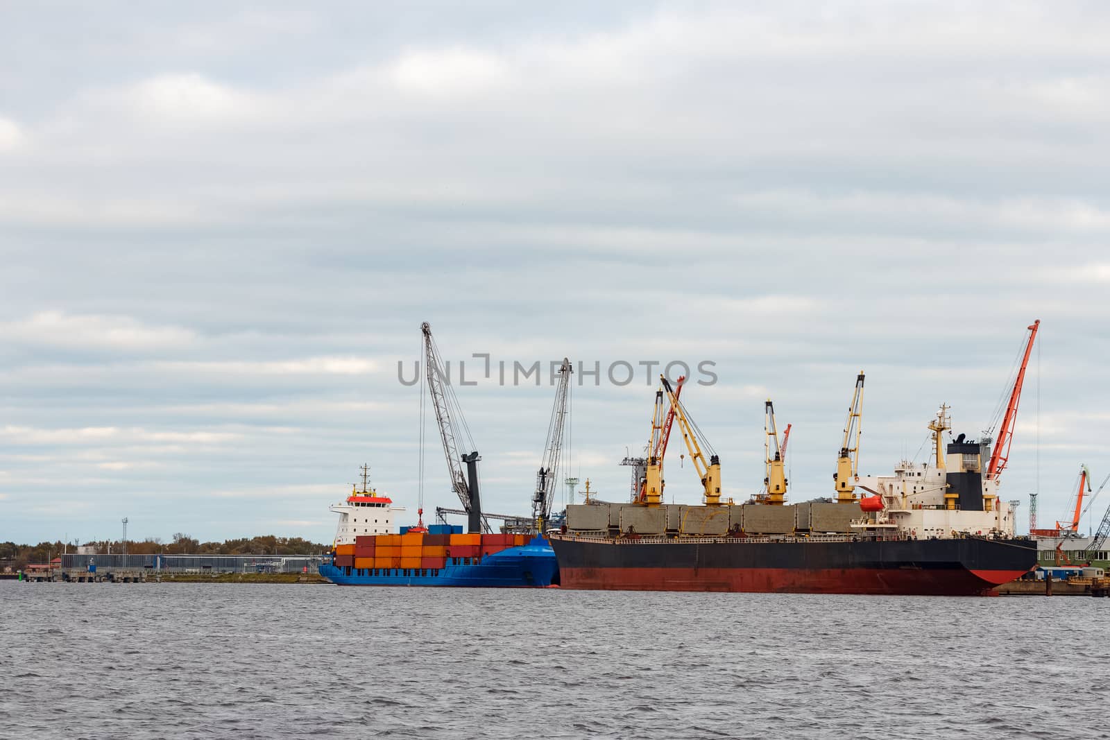
[[[1110,599],[0,581],[2,738],[1108,738]]]

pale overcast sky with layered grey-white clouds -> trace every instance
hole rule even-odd
[[[0,540],[330,541],[364,462],[413,520],[423,321],[456,362],[714,362],[685,397],[726,490],[773,397],[803,500],[860,368],[880,474],[941,402],[986,428],[1040,318],[1003,498],[1043,521],[1110,473],[1104,3],[2,12]],[[552,388],[457,393],[487,507],[527,511]],[[642,367],[574,387],[602,496],[652,404]]]

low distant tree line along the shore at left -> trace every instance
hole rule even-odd
[[[120,540],[98,540],[83,543],[97,548],[97,553],[122,553]],[[129,555],[317,555],[326,550],[329,545],[311,543],[301,537],[278,537],[262,535],[259,537],[241,537],[226,539],[222,543],[202,543],[184,533],[176,533],[172,541],[163,543],[160,537],[148,537],[143,540],[128,540]],[[63,551],[74,553],[75,545],[62,541],[39,543],[38,545],[17,545],[0,543],[0,565],[21,570],[32,562],[49,562],[51,558]]]

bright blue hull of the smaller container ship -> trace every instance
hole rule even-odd
[[[339,586],[456,586],[470,588],[544,588],[558,585],[558,564],[546,539],[511,547],[475,565],[440,569],[340,568],[325,558],[320,575]]]

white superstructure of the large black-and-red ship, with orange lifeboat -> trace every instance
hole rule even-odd
[[[986,474],[990,439],[959,435],[944,445],[950,429],[947,407],[929,424],[931,463],[902,460],[891,476],[860,476],[857,486],[870,494],[860,501],[865,518],[857,530],[898,533],[918,539],[982,535],[1015,536],[1015,506],[998,496],[998,477]],[[946,454],[947,453],[947,454]]]

